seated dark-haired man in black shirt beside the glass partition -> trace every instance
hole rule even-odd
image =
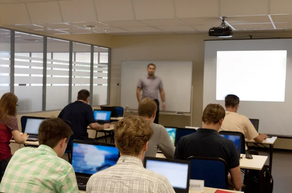
[[[103,130],[110,128],[110,124],[100,125],[95,122],[92,107],[89,103],[90,92],[80,90],[77,100],[67,105],[59,114],[59,118],[71,122],[74,139],[93,140],[88,138],[87,126],[94,130]]]

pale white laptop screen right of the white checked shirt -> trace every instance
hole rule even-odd
[[[146,169],[166,177],[173,188],[187,189],[188,164],[146,160]]]

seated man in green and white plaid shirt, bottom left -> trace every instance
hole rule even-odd
[[[38,148],[15,152],[0,184],[3,193],[78,193],[72,165],[63,160],[71,128],[61,119],[44,120],[38,129]]]

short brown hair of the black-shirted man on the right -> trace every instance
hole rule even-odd
[[[207,124],[217,124],[224,119],[225,110],[219,104],[208,104],[203,111],[202,121]]]

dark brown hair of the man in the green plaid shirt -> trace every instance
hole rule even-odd
[[[39,145],[47,145],[54,148],[61,139],[69,138],[73,135],[72,129],[59,118],[49,118],[44,120],[38,129]]]

